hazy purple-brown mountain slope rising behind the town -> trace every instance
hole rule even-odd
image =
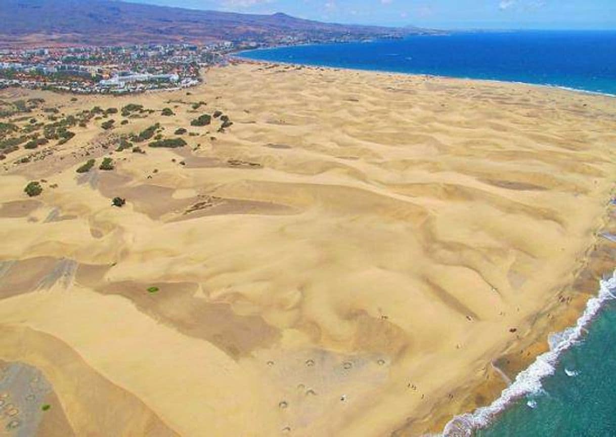
[[[0,46],[257,43],[397,38],[421,30],[321,23],[115,0],[0,0]]]

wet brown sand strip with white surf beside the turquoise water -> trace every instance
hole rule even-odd
[[[533,351],[530,355],[520,358],[515,353],[505,351],[493,358],[494,370],[501,374],[503,380],[509,380],[506,387],[500,391],[498,381],[480,383],[475,388],[469,385],[469,399],[475,393],[485,391],[496,393],[497,396],[488,404],[476,404],[467,408],[467,412],[450,416],[447,422],[444,422],[444,414],[437,415],[436,422],[420,437],[471,437],[476,431],[490,427],[516,401],[540,393],[543,380],[554,374],[562,354],[575,347],[577,341],[583,341],[586,330],[596,321],[605,304],[616,299],[616,268],[613,267],[616,258],[606,259],[604,254],[606,251],[610,255],[616,254],[616,244],[602,237],[604,232],[616,227],[616,223],[609,219],[613,198],[611,195],[606,202],[602,224],[594,232],[593,243],[587,253],[579,260],[582,266],[577,269],[570,286],[563,287],[571,288],[575,293],[571,304],[557,308],[556,311],[548,306],[538,312],[541,317],[537,324],[543,324],[540,329],[506,348],[511,351],[520,348],[522,351]],[[611,264],[612,268],[606,268],[606,264]],[[593,282],[591,279],[596,284],[593,292],[588,289],[588,285]],[[505,370],[498,366],[501,364],[499,361],[508,362],[503,366]]]

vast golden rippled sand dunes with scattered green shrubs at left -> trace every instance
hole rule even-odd
[[[7,435],[435,433],[614,267],[614,98],[265,63],[204,78],[0,91]]]

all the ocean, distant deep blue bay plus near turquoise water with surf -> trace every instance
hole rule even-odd
[[[616,31],[411,36],[242,52],[240,57],[572,88],[616,96]],[[598,284],[599,289],[599,284]],[[578,324],[550,338],[492,405],[463,414],[447,436],[616,437],[616,276]]]

